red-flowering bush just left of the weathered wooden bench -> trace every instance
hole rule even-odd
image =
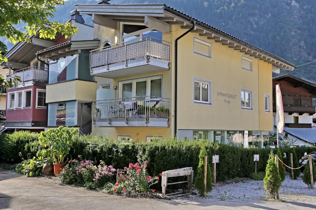
[[[127,171],[125,177],[123,178],[124,182],[115,183],[115,185],[112,187],[113,192],[155,192],[155,190],[150,189],[150,186],[156,184],[159,180],[159,177],[151,177],[148,175],[146,163],[147,162],[145,162],[143,165],[140,165],[139,163],[130,163],[128,167],[124,167],[124,169]]]

